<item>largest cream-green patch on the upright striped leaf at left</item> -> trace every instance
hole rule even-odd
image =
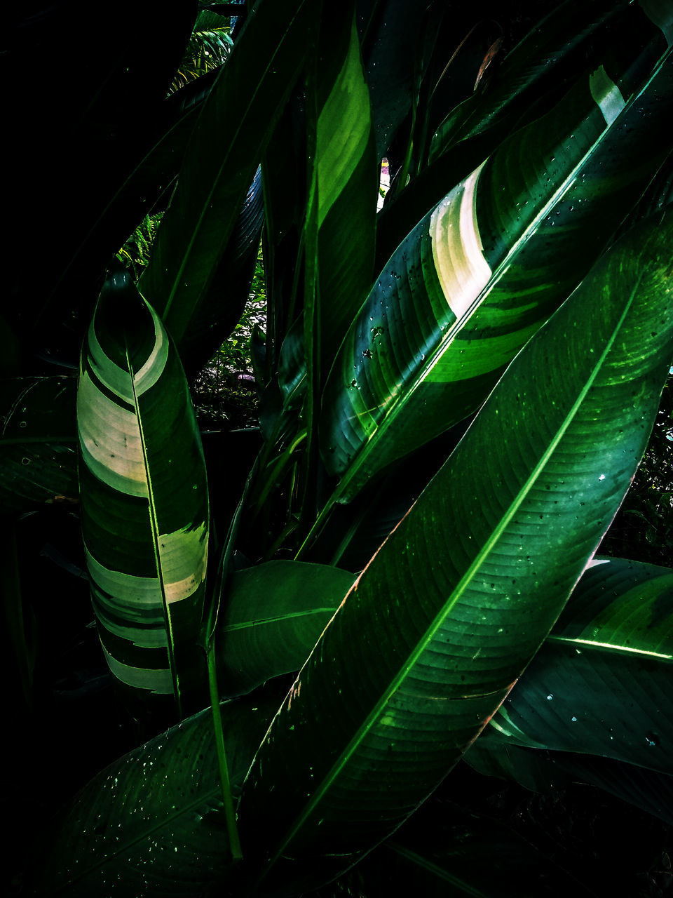
[[[126,377],[128,382],[128,374]],[[80,376],[77,422],[83,462],[92,474],[127,496],[147,497],[143,446],[135,413],[109,399],[87,372]]]

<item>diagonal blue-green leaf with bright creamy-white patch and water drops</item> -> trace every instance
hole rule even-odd
[[[335,497],[478,408],[596,260],[669,148],[669,55],[642,85],[659,40],[582,76],[393,254],[325,390],[321,452],[341,477]]]

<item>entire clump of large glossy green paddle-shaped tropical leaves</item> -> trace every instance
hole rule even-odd
[[[423,836],[463,757],[671,822],[673,571],[597,550],[671,364],[673,4],[496,9],[258,0],[168,96],[236,4],[148,3],[105,36],[64,128],[109,166],[87,193],[56,148],[44,255],[17,241],[40,265],[0,321],[4,656],[37,734],[61,646],[38,623],[34,647],[35,543],[88,586],[143,744],[42,832],[33,892],[308,894],[383,852],[456,894],[566,894],[455,806]],[[29,137],[37,84],[10,110]],[[252,451],[202,441],[189,384],[245,314],[260,233]],[[481,837],[529,881],[468,864]]]

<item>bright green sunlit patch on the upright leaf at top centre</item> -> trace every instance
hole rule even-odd
[[[332,128],[335,121],[353,122],[348,132]],[[369,92],[360,62],[360,41],[355,23],[344,66],[318,118],[318,226],[337,201],[347,172],[354,171],[370,135]]]

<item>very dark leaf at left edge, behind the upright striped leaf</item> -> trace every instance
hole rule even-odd
[[[0,436],[0,514],[77,501],[74,398],[72,377],[17,380]]]

